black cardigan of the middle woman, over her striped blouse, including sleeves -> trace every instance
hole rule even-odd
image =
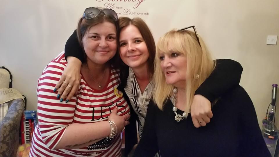
[[[65,58],[67,56],[74,56],[82,62],[84,61],[83,49],[78,43],[76,30],[67,40],[65,45]],[[217,60],[216,68],[196,90],[195,94],[201,94],[210,100],[210,102],[213,102],[214,99],[220,97],[222,94],[230,91],[230,89],[235,88],[239,84],[242,70],[242,66],[234,60]],[[128,68],[123,68],[121,71],[128,73]],[[124,91],[127,82],[126,80],[127,77],[121,77],[122,83],[118,86],[118,90],[123,92],[124,98],[130,105],[129,98]],[[137,144],[136,120],[138,116],[133,111],[132,106],[130,106],[130,110],[130,124],[125,126],[125,156],[127,156],[132,147]]]

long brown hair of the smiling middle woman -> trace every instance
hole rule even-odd
[[[149,58],[147,59],[147,65],[148,65],[148,73],[149,73],[149,79],[151,80],[153,77],[154,72],[154,58],[156,53],[156,46],[155,41],[153,38],[153,35],[147,26],[147,24],[143,21],[143,19],[136,17],[133,19],[130,19],[129,17],[119,17],[119,33],[121,30],[129,25],[134,25],[137,27],[137,29],[140,31],[140,34],[142,35],[142,38],[144,39],[146,43],[146,47],[149,52]],[[119,42],[119,41],[118,41]],[[119,43],[120,45],[120,43]],[[124,70],[123,70],[124,71]],[[127,76],[128,78],[128,76]]]

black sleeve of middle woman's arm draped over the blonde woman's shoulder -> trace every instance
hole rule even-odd
[[[210,76],[196,90],[196,94],[206,97],[211,103],[223,93],[239,85],[242,66],[231,59],[216,60],[216,67]]]

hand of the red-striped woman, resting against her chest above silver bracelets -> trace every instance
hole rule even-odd
[[[130,118],[130,115],[117,115],[117,106],[111,111],[110,116],[108,117],[108,120],[115,123],[117,127],[117,133],[121,133],[121,131],[124,129],[124,127],[130,122],[128,121]]]

